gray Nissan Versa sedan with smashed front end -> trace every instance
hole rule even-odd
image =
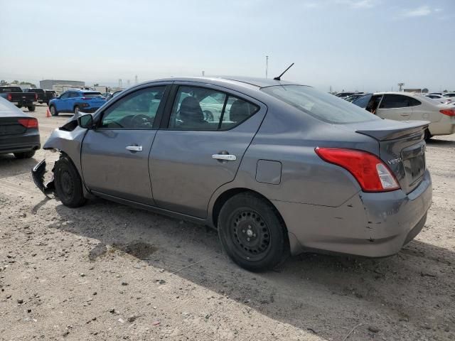
[[[432,202],[427,126],[293,82],[171,78],[56,129],[55,180],[43,185],[45,161],[33,178],[69,207],[97,196],[207,224],[252,271],[307,250],[389,256]]]

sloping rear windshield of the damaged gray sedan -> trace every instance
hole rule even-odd
[[[263,92],[316,119],[333,124],[346,124],[380,119],[344,99],[319,92],[305,85],[263,87]]]

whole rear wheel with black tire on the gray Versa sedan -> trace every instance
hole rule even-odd
[[[218,235],[232,261],[250,271],[273,269],[289,256],[287,229],[277,210],[254,193],[240,193],[225,202]]]

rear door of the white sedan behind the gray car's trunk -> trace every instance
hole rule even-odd
[[[412,97],[404,94],[384,94],[376,114],[382,119],[407,121],[412,115]]]

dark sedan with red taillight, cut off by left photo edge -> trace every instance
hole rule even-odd
[[[31,158],[40,147],[38,120],[0,97],[0,154]]]

